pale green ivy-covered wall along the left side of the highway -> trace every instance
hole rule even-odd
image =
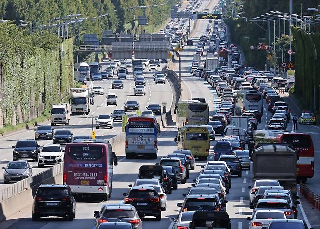
[[[50,104],[68,99],[74,84],[73,40],[56,49],[36,48],[31,56],[15,55],[0,64],[0,127],[29,121]]]

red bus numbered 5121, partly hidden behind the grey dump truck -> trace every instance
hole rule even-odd
[[[297,179],[305,183],[314,176],[315,150],[309,134],[286,133],[276,137],[278,143],[290,144],[299,153],[297,161]]]

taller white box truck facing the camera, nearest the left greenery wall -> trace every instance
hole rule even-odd
[[[89,88],[70,88],[70,104],[72,114],[89,114]]]

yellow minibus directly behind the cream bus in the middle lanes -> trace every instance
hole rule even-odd
[[[178,131],[175,138],[178,149],[188,149],[194,157],[207,160],[210,149],[209,131],[198,125],[185,125]]]

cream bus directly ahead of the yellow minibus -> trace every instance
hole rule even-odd
[[[197,100],[181,100],[175,107],[177,127],[184,125],[206,125],[209,122],[209,106]]]

